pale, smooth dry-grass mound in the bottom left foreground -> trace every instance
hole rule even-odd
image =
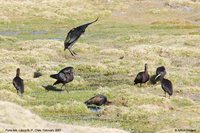
[[[10,103],[10,102],[0,102],[0,113],[2,114],[2,119],[0,119],[0,132],[5,132],[4,128],[14,128],[16,130],[22,129],[40,129],[42,132],[47,132],[44,130],[54,129],[55,127],[61,129],[61,133],[74,133],[74,132],[84,132],[84,133],[125,133],[123,130],[113,129],[113,128],[91,128],[89,126],[74,126],[61,123],[52,123],[42,120],[37,115],[33,114],[23,107]],[[6,116],[6,117],[5,117]],[[52,116],[53,117],[53,116]],[[43,130],[44,129],[44,130]],[[21,131],[20,131],[21,132]],[[26,131],[27,132],[27,131]]]

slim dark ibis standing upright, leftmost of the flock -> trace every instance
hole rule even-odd
[[[19,77],[20,75],[20,69],[17,68],[17,71],[16,71],[16,76],[15,78],[13,79],[13,85],[14,87],[16,88],[17,90],[17,94],[18,94],[18,91],[20,92],[20,95],[21,97],[23,96],[23,93],[24,93],[24,81],[23,79],[21,79]]]

